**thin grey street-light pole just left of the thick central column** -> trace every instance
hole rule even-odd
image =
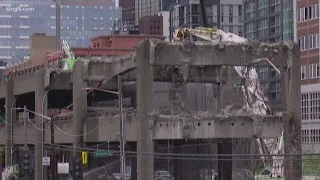
[[[126,180],[126,159],[125,159],[125,140],[124,140],[124,121],[123,121],[123,105],[122,105],[122,80],[121,76],[118,76],[118,92],[119,92],[119,117],[120,117],[120,173],[121,179]]]

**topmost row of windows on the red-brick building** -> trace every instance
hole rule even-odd
[[[309,7],[299,8],[297,10],[297,21],[307,21],[319,18],[319,5],[315,4]]]

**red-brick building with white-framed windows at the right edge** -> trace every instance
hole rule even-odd
[[[301,60],[302,148],[320,152],[319,1],[297,1]]]

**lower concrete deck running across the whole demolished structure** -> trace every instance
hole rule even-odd
[[[27,137],[23,123],[13,130],[14,144],[23,144],[26,139],[30,144],[37,142],[37,130],[40,127],[29,123]],[[55,142],[72,144],[73,115],[62,115],[55,118]],[[277,138],[281,132],[281,116],[252,115],[214,115],[208,112],[197,112],[194,115],[150,114],[150,132],[154,140],[163,139],[212,139],[212,138]],[[118,111],[101,111],[88,113],[83,129],[84,142],[118,141]],[[127,141],[137,141],[138,121],[135,111],[125,113],[125,137]],[[45,143],[50,144],[50,123],[44,124]],[[0,128],[0,144],[6,140],[5,127]]]

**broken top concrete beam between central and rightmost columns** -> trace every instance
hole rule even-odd
[[[266,44],[248,41],[246,43],[169,43],[150,40],[150,62],[155,66],[249,66],[258,58],[268,58],[275,66],[286,66],[280,56],[282,43]],[[285,45],[286,53],[293,44]],[[265,64],[270,66],[269,64]]]

